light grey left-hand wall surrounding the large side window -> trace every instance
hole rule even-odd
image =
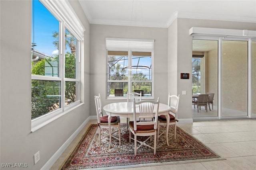
[[[89,94],[89,23],[78,1],[70,1],[86,28],[84,94]],[[27,163],[39,170],[89,116],[85,104],[31,132],[31,1],[0,1],[0,157],[1,163]],[[40,151],[34,165],[33,155]],[[12,168],[1,168],[12,169]],[[17,168],[18,169],[18,168]]]

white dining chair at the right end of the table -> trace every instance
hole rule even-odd
[[[177,129],[177,123],[178,123],[178,106],[180,101],[180,95],[170,95],[168,94],[168,106],[170,106],[169,116],[170,120],[166,120],[165,115],[158,116],[158,134],[157,134],[157,141],[159,141],[159,137],[166,133],[166,143],[169,146],[168,141],[168,130],[169,125],[174,125],[174,139],[176,139],[176,129]],[[166,129],[160,129],[160,125],[165,125]],[[161,131],[161,134],[159,135],[159,132]]]

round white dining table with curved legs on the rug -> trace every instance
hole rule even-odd
[[[156,112],[157,105],[154,107],[154,112]],[[107,104],[103,107],[103,110],[108,115],[108,126],[109,126],[109,134],[111,134],[110,120],[113,116],[120,116],[124,118],[133,118],[133,102],[117,102]],[[137,110],[137,109],[136,109]],[[159,104],[158,115],[165,115],[166,119],[169,120],[169,111],[170,106],[166,104]],[[139,114],[139,113],[138,113]],[[169,127],[169,121],[167,121],[167,128]],[[168,129],[166,129],[168,131]],[[111,147],[111,135],[109,135],[109,148]]]

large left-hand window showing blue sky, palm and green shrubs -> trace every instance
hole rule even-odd
[[[76,18],[70,20],[63,15],[70,7],[58,8],[66,3],[32,0],[32,120],[80,103],[79,61],[84,29],[72,25]]]

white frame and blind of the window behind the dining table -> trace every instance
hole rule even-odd
[[[112,44],[108,45],[107,41],[120,41],[120,46],[113,46]],[[130,43],[139,42],[141,43],[152,43],[151,47],[143,48],[142,46],[136,48],[136,45]],[[125,42],[125,43],[123,43]],[[129,42],[129,43],[127,43]],[[128,44],[128,45],[127,45]],[[131,46],[131,47],[130,47]],[[150,49],[151,48],[151,49]],[[151,80],[132,80],[132,70],[128,70],[128,80],[109,80],[108,79],[108,51],[128,51],[128,67],[131,67],[132,64],[132,52],[150,52],[151,53]],[[142,99],[154,99],[154,40],[152,39],[124,39],[124,38],[106,38],[106,99],[107,100],[127,100],[127,96],[108,96],[108,83],[109,82],[128,82],[128,93],[132,92],[132,83],[133,82],[150,82],[151,83],[151,96],[142,96]]]

